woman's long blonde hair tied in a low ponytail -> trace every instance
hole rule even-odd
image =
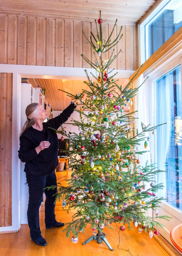
[[[35,118],[39,113],[39,108],[38,108],[39,105],[40,105],[39,103],[31,103],[26,107],[25,114],[27,116],[27,121],[25,122],[22,128],[20,136],[25,130],[30,128],[35,123]]]

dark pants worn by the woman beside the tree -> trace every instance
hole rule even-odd
[[[47,190],[44,188],[56,185],[55,171],[46,176],[32,176],[26,174],[27,184],[29,189],[29,201],[27,210],[28,226],[30,228],[30,237],[36,242],[42,241],[40,226],[39,226],[39,208],[42,202],[43,193],[46,195],[45,201],[45,224],[46,228],[50,228],[56,223],[55,219],[55,196],[57,189]]]

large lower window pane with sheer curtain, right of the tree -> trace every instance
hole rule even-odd
[[[164,189],[158,193],[168,204],[182,209],[182,100],[181,65],[153,82],[154,124],[159,126],[154,143],[155,162],[165,173],[157,175]]]

